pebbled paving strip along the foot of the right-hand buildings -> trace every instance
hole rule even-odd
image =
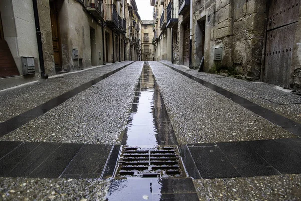
[[[262,107],[301,123],[301,96],[284,92],[275,85],[263,82],[248,82],[232,77],[198,72],[183,66],[173,65],[171,62],[161,61],[195,77],[203,79],[218,87],[244,97]]]

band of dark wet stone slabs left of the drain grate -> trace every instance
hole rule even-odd
[[[6,148],[12,143],[2,141],[1,145]],[[100,178],[112,148],[111,145],[44,142],[14,145],[17,147],[0,159],[0,177]]]

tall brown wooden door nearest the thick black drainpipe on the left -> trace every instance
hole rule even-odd
[[[49,6],[55,70],[62,71],[61,41],[56,1],[51,1]]]

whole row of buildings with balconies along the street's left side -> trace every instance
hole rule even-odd
[[[135,0],[5,0],[0,16],[0,90],[140,58]]]

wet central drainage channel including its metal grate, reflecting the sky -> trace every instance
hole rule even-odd
[[[106,200],[198,200],[148,62],[115,164]]]

